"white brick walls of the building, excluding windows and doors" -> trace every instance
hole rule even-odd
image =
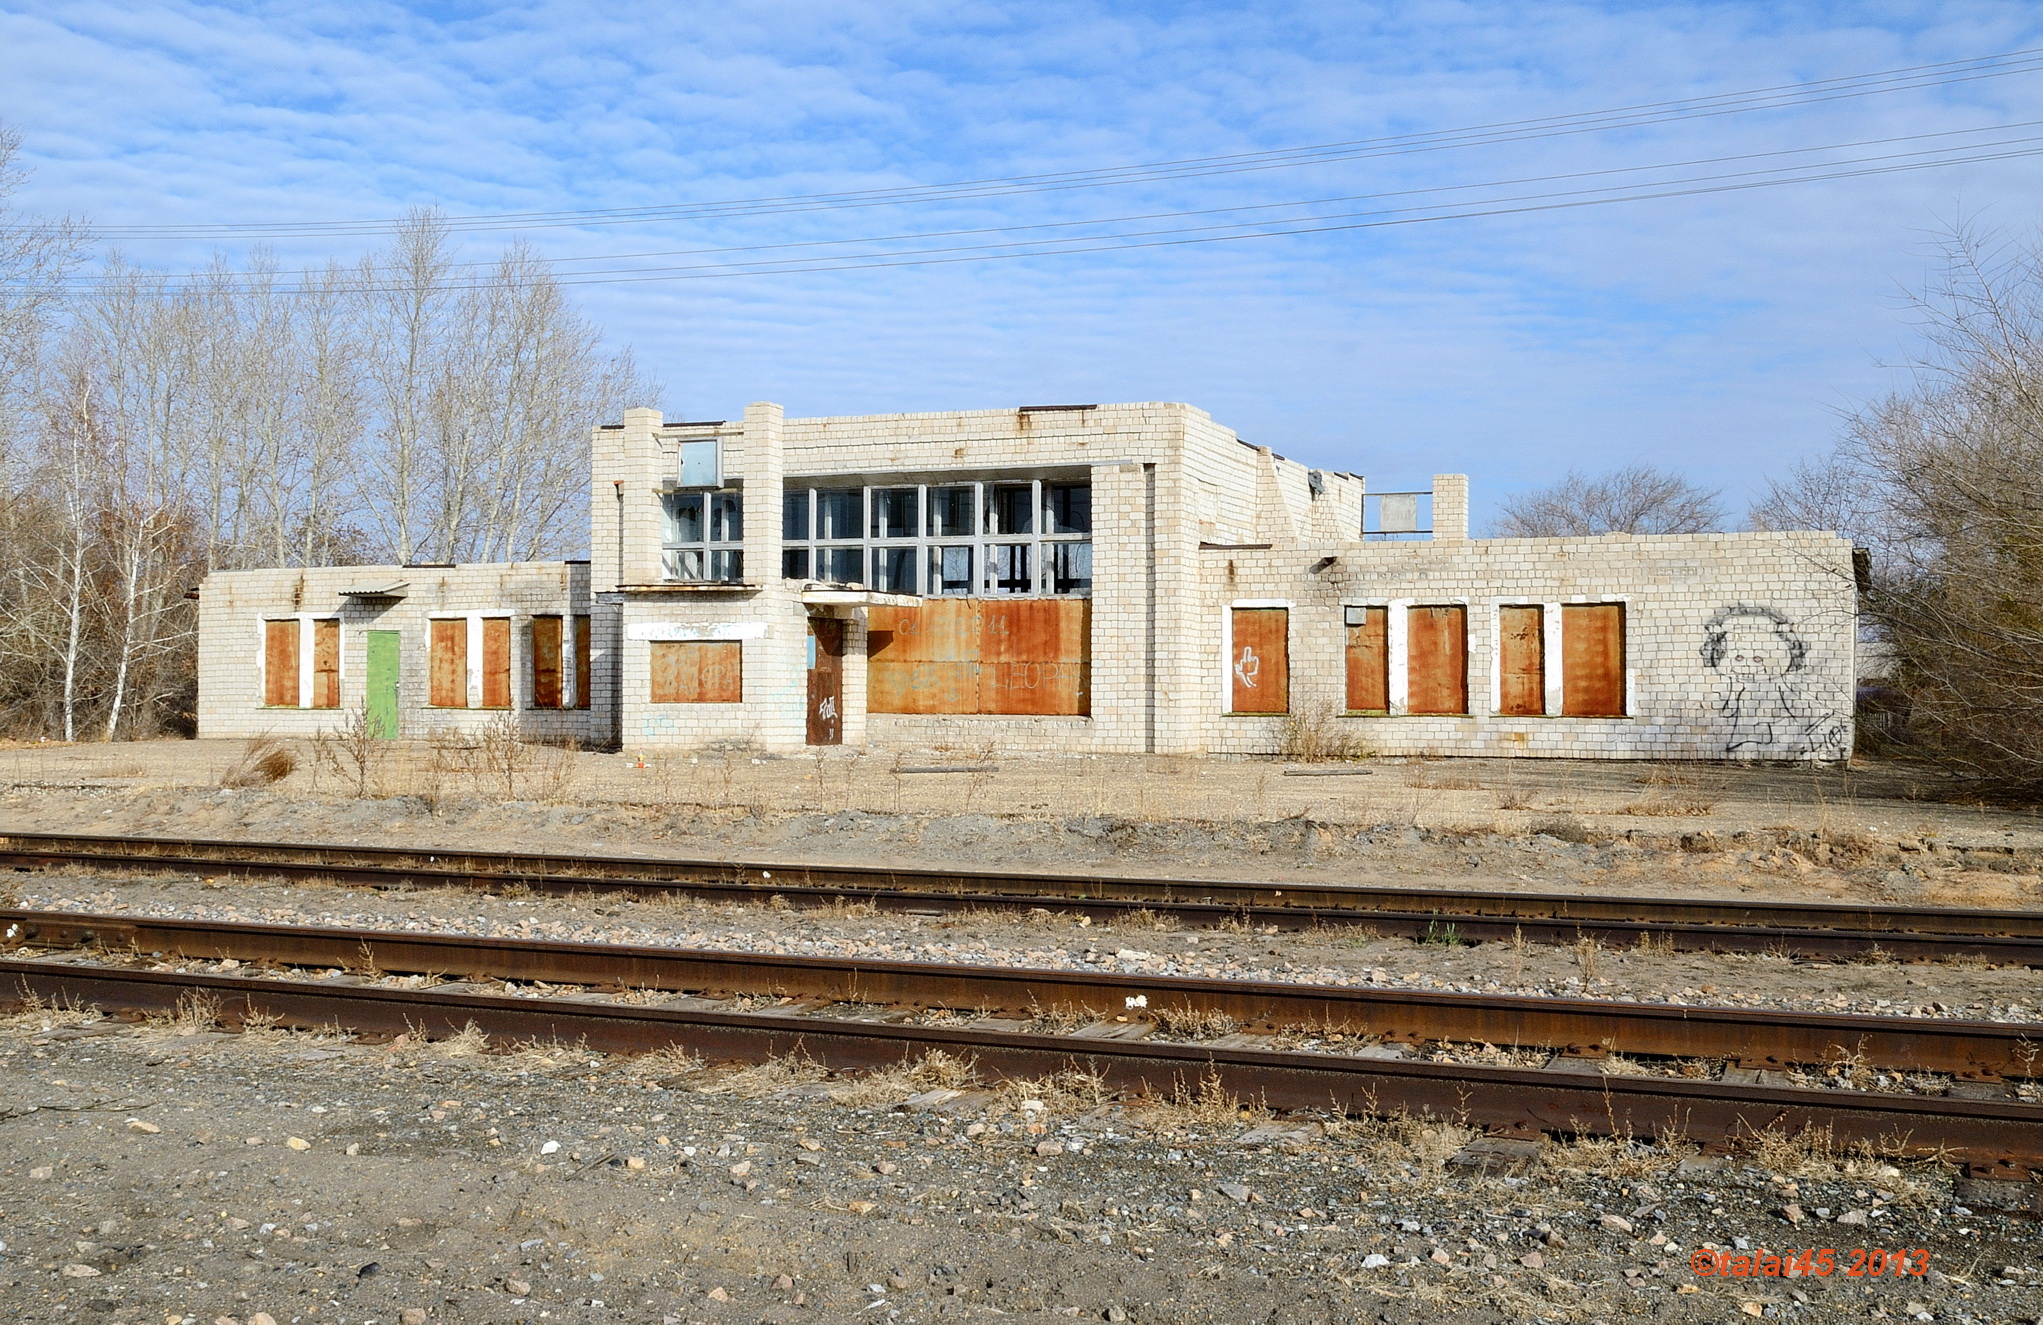
[[[725,474],[744,488],[748,586],[660,582],[660,482],[680,437],[723,439]],[[1694,535],[1665,539],[1477,539],[1467,480],[1434,476],[1432,541],[1361,541],[1365,484],[1244,445],[1187,404],[1089,410],[964,410],[782,419],[774,404],[744,421],[682,429],[627,410],[592,433],[588,566],[347,568],[212,576],[200,596],[200,729],[206,735],[317,729],[331,715],[262,708],[259,621],[339,608],[339,588],[409,578],[398,606],[343,610],[343,704],[360,704],[362,629],[388,617],[407,631],[405,710],[466,725],[490,715],[425,708],[427,610],[595,610],[597,692],[588,715],[521,715],[584,739],[644,745],[805,741],[807,608],[780,580],[780,494],[789,482],[885,484],[1015,470],[1089,474],[1093,484],[1093,641],[1089,717],[901,717],[864,713],[866,627],[852,612],[844,659],[848,745],[1083,751],[1271,753],[1283,719],[1224,713],[1226,606],[1295,602],[1295,708],[1344,698],[1346,604],[1467,602],[1471,715],[1342,717],[1383,753],[1524,753],[1569,757],[1833,757],[1851,739],[1855,592],[1851,549],[1835,535]],[[1332,557],[1326,568],[1316,566]],[[541,604],[543,606],[535,606]],[[574,606],[570,606],[570,602]],[[592,602],[592,606],[590,606]],[[1495,715],[1500,602],[1624,602],[1630,706],[1624,719]],[[558,606],[554,606],[558,604]],[[631,627],[727,627],[746,635],[740,704],[650,702],[650,643]],[[1549,688],[1559,686],[1559,612],[1549,610]],[[1710,631],[1763,657],[1706,657]],[[419,643],[413,643],[413,637]],[[513,631],[529,698],[529,635]],[[417,651],[417,661],[413,655]],[[1773,659],[1794,655],[1794,666]],[[1771,661],[1769,661],[1771,659]],[[1745,672],[1739,672],[1745,668]],[[1753,670],[1757,668],[1757,672]],[[1773,668],[1771,672],[1767,668]]]

